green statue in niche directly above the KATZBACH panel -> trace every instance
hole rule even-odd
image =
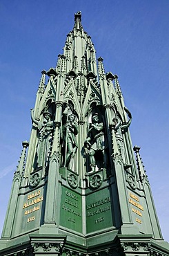
[[[92,123],[88,130],[88,137],[84,143],[84,147],[88,149],[91,172],[96,170],[96,153],[101,152],[103,156],[103,168],[106,168],[106,140],[104,134],[103,122],[99,122],[99,114],[92,114]]]

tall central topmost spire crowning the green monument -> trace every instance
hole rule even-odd
[[[81,25],[81,12],[74,14],[74,27],[67,35],[63,55],[66,56],[66,73],[73,70],[75,73],[81,71],[83,75],[86,75],[88,71],[97,74],[95,48],[91,37],[83,30]],[[61,63],[59,60],[57,71],[60,70]]]

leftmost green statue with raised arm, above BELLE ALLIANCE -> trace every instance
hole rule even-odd
[[[43,112],[43,122],[34,118],[34,110],[31,109],[32,123],[37,125],[39,130],[39,141],[37,144],[37,167],[46,166],[52,143],[52,131],[54,121],[51,121],[52,114],[48,111]]]

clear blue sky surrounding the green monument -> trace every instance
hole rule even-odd
[[[119,76],[132,112],[164,239],[169,241],[169,1],[0,1],[0,231],[21,143],[29,140],[41,71],[57,63],[81,10],[106,72]]]

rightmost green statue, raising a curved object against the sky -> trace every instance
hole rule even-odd
[[[112,120],[113,125],[112,126],[115,129],[115,136],[116,136],[116,139],[117,139],[117,145],[119,147],[119,153],[120,153],[121,158],[123,160],[124,168],[127,170],[129,167],[131,167],[131,165],[126,163],[126,156],[125,156],[125,149],[124,149],[122,131],[130,126],[130,123],[132,122],[132,114],[130,113],[130,111],[126,107],[124,107],[124,110],[128,114],[128,118],[129,118],[128,122],[123,122],[122,123],[120,118],[117,116],[117,117],[113,118],[113,120]]]

